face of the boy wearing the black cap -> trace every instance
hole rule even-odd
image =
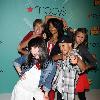
[[[63,55],[68,54],[68,52],[71,50],[72,43],[59,43],[60,50]]]

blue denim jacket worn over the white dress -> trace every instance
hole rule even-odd
[[[21,56],[14,61],[14,67],[22,67],[22,65],[26,62],[28,56]],[[22,72],[25,73],[26,71],[30,70],[32,66],[35,64],[35,61],[33,61],[33,64],[31,66],[26,66],[22,69]],[[52,87],[52,81],[56,73],[56,64],[52,60],[47,60],[44,64],[43,69],[41,69],[41,76],[39,81],[39,87],[42,86],[44,91],[49,92]]]

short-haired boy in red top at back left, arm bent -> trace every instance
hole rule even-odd
[[[19,43],[18,45],[18,52],[21,55],[27,55],[28,54],[28,50],[27,50],[27,45],[28,42],[32,39],[32,38],[36,38],[36,37],[42,37],[42,33],[43,33],[44,27],[43,27],[43,21],[41,19],[36,19],[33,22],[33,30],[30,31],[23,39],[22,41]]]

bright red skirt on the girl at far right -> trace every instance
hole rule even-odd
[[[85,90],[89,90],[89,88],[90,85],[87,74],[80,75],[76,85],[76,92],[84,92]]]

